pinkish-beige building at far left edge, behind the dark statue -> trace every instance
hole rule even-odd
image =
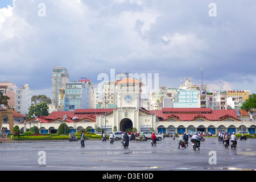
[[[16,84],[10,81],[2,81],[0,82],[0,92],[3,92],[4,96],[10,97],[8,100],[9,107],[15,107],[16,105],[16,89],[19,89]],[[0,105],[3,107],[4,105]]]

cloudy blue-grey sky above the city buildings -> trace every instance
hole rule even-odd
[[[212,5],[214,3],[215,6]],[[51,97],[52,68],[69,80],[158,74],[256,93],[255,0],[1,0],[0,81]]]

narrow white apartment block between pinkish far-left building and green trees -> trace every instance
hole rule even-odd
[[[28,84],[22,84],[21,89],[16,89],[16,106],[15,110],[23,115],[28,114],[28,109],[31,106],[31,90]]]

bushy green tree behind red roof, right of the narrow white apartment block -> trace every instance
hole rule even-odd
[[[48,112],[49,107],[47,106],[47,103],[41,102],[36,106],[30,106],[30,108],[28,109],[27,119],[31,118],[33,114],[39,117],[41,115],[41,109],[42,109],[42,115],[45,115],[45,116],[49,115],[49,112]]]

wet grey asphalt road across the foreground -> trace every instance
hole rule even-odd
[[[256,170],[256,139],[238,140],[236,150],[225,148],[217,138],[206,138],[196,151],[190,142],[187,148],[177,146],[172,138],[156,146],[151,146],[150,140],[133,141],[129,148],[109,140],[85,140],[85,147],[80,147],[80,141],[6,142],[0,143],[0,167],[1,171]]]

